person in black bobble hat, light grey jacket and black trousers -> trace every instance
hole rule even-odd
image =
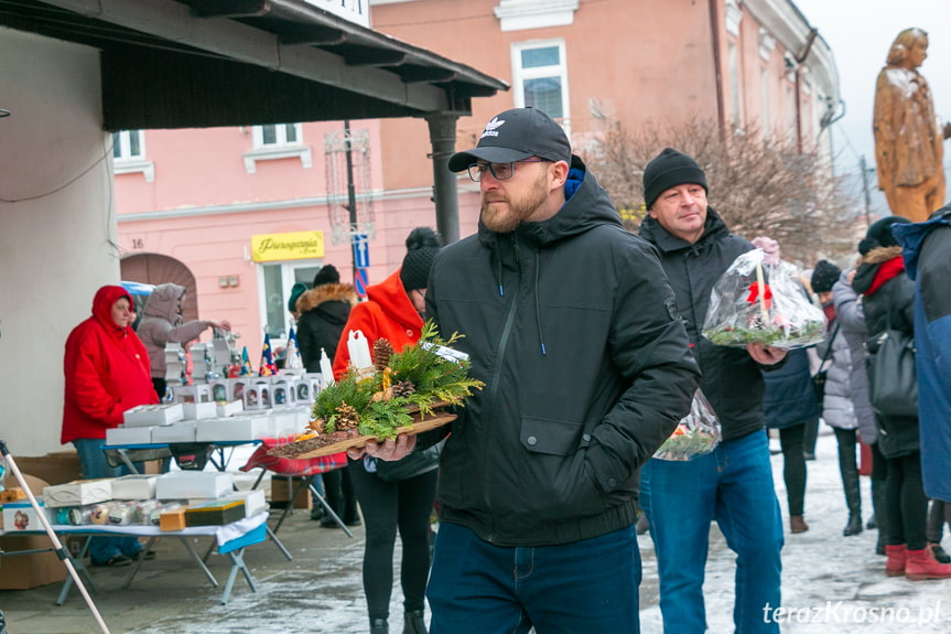
[[[810,283],[813,292],[819,295],[826,319],[825,339],[815,346],[817,354],[823,359],[820,369],[826,373],[822,419],[835,432],[835,442],[839,445],[839,474],[842,476],[842,490],[849,508],[849,523],[842,530],[842,535],[850,537],[862,533],[862,488],[858,484],[858,461],[855,451],[858,440],[858,418],[852,399],[851,375],[854,361],[850,342],[845,339],[842,324],[836,319],[832,294],[832,288],[841,275],[839,267],[830,261],[820,260],[812,271]],[[863,363],[861,356],[857,361]],[[862,369],[864,372],[864,366]]]

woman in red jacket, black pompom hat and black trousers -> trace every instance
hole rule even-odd
[[[367,289],[368,300],[350,311],[334,356],[334,376],[347,369],[350,331],[361,331],[372,350],[382,337],[402,351],[419,341],[423,327],[426,282],[440,239],[429,227],[413,229],[407,238],[407,255],[400,270]],[[433,462],[425,472],[396,482],[377,473],[375,459],[349,460],[347,469],[364,513],[364,592],[370,617],[370,634],[388,634],[390,593],[393,587],[393,545],[399,528],[403,546],[400,582],[403,590],[404,634],[425,634],[423,620],[426,579],[430,572],[430,515],[436,494]]]

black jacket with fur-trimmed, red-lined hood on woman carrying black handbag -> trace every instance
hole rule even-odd
[[[889,326],[915,336],[915,282],[908,279],[901,247],[879,247],[862,257],[852,288],[862,293],[868,339]],[[887,266],[887,265],[891,266]],[[878,423],[878,449],[885,458],[901,458],[920,451],[917,416],[883,416]]]

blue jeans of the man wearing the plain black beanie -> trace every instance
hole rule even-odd
[[[782,518],[772,484],[769,442],[754,432],[688,462],[651,459],[640,479],[641,505],[660,573],[667,634],[703,634],[703,574],[710,523],[736,552],[737,634],[774,633],[764,609],[779,608]]]

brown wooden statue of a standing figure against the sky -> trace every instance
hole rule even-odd
[[[915,223],[944,205],[943,141],[951,136],[951,123],[940,127],[931,89],[918,73],[927,51],[921,29],[899,33],[875,86],[878,189],[893,215]]]

